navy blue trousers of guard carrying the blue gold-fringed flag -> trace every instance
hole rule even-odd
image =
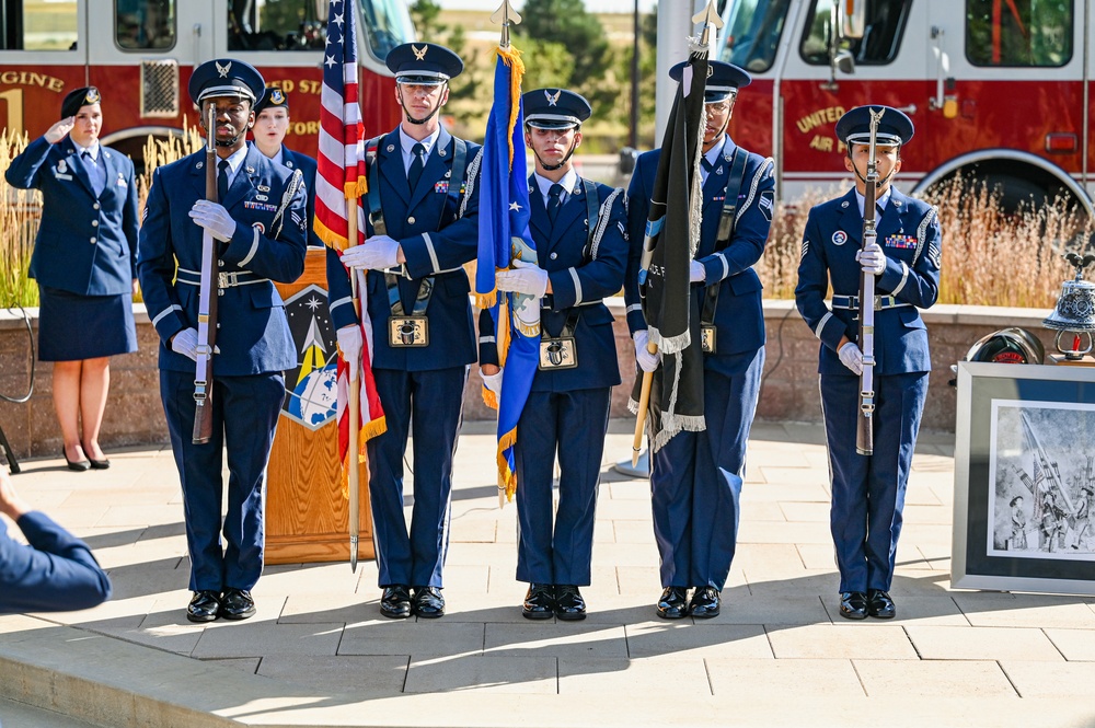
[[[517,424],[517,580],[590,582],[593,510],[612,390],[531,392]],[[552,479],[558,455],[558,511]]]

